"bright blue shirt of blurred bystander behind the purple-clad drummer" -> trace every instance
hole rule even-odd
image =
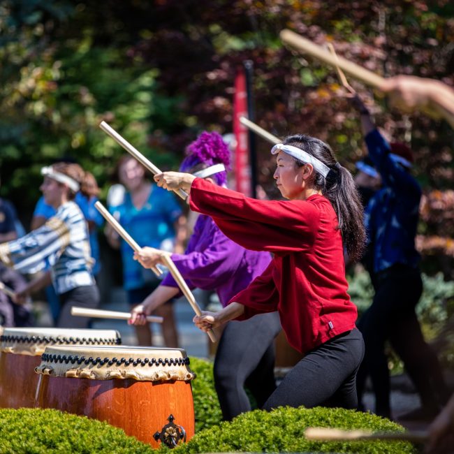
[[[151,186],[147,202],[138,210],[132,203],[131,194],[126,192],[120,205],[110,206],[109,211],[119,224],[140,247],[161,249],[164,240],[175,239],[173,224],[181,216],[182,209],[175,194],[159,186]],[[120,251],[123,261],[123,286],[126,290],[140,288],[153,278],[151,270],[143,268],[133,259],[133,250],[121,240]]]

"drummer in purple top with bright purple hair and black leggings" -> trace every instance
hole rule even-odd
[[[226,186],[230,152],[218,133],[201,133],[187,153],[181,170],[210,184]],[[146,267],[162,263],[161,252],[156,249],[142,248],[135,256]],[[229,240],[204,214],[198,216],[184,254],[172,254],[171,258],[191,288],[216,291],[223,306],[271,261],[268,252],[248,251]],[[133,309],[131,323],[145,323],[146,315],[177,295],[177,283],[168,274],[161,286]],[[224,420],[251,410],[245,387],[258,405],[263,405],[276,388],[274,337],[280,330],[276,313],[226,324],[214,358],[214,386]]]

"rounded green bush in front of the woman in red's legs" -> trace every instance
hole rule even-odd
[[[325,453],[416,453],[416,448],[403,441],[308,441],[307,427],[339,427],[372,431],[402,432],[402,426],[370,413],[344,409],[293,409],[281,407],[271,412],[254,410],[243,413],[231,422],[203,430],[173,454],[217,453],[242,451],[261,452],[325,452]]]

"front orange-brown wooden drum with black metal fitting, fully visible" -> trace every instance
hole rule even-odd
[[[51,346],[36,372],[36,407],[103,420],[156,448],[194,434],[194,374],[182,349]]]

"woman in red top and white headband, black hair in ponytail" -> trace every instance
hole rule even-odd
[[[272,147],[277,187],[288,200],[256,200],[186,173],[154,180],[190,193],[191,210],[208,214],[247,249],[273,254],[268,268],[220,312],[194,317],[201,330],[278,312],[288,343],[305,354],[262,405],[356,409],[356,371],[364,344],[347,293],[344,248],[363,251],[363,207],[353,177],[328,145],[305,135]]]

